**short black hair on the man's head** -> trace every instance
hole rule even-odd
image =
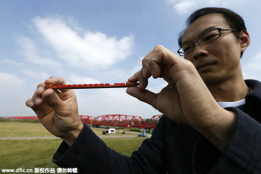
[[[235,30],[234,34],[238,39],[240,39],[240,36],[238,35],[238,33],[241,30],[247,30],[247,28],[245,26],[245,22],[239,14],[237,14],[227,8],[217,8],[217,7],[206,7],[206,8],[201,8],[199,10],[196,10],[187,18],[186,27],[188,27],[191,23],[196,21],[199,17],[204,16],[206,14],[211,14],[211,13],[223,14],[226,21],[229,23],[230,28]],[[182,32],[180,32],[180,35],[178,37],[178,44],[180,47],[182,47],[183,33],[184,33],[184,30]],[[242,55],[243,55],[243,52],[241,52],[241,57],[242,57]]]

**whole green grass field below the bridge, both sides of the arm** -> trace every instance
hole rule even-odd
[[[94,128],[93,131],[97,135],[102,135],[103,130]],[[0,122],[0,137],[39,136],[53,135],[39,123]],[[131,156],[131,153],[139,148],[144,138],[119,137],[103,138],[102,140],[107,146],[122,155]],[[56,170],[58,166],[52,163],[52,156],[61,142],[61,139],[0,140],[0,173],[1,169],[6,168],[24,168],[33,169],[33,171],[34,168],[55,168]]]

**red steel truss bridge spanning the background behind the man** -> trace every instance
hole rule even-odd
[[[130,115],[102,115],[98,117],[79,115],[82,122],[92,126],[115,126],[115,127],[129,127],[129,128],[155,128],[158,120],[162,115],[154,115],[148,122],[145,122],[142,117]],[[11,119],[38,119],[33,117],[5,117]],[[147,120],[147,119],[146,119]]]

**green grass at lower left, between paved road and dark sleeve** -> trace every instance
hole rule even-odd
[[[53,168],[52,155],[61,139],[0,140],[0,168]]]

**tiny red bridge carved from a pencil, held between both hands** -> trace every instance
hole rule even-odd
[[[92,89],[92,88],[128,88],[132,86],[138,86],[139,83],[132,82],[132,81],[126,81],[125,83],[115,83],[114,85],[110,84],[79,84],[79,85],[56,85],[48,84],[46,85],[47,89]]]

